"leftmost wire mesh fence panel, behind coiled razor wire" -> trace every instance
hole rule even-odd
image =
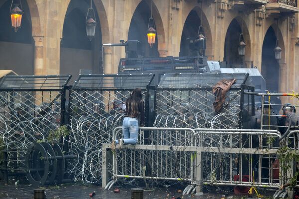
[[[24,169],[20,159],[36,140],[64,124],[65,86],[70,75],[5,76],[0,83],[0,137],[8,167]],[[17,151],[14,151],[17,150]],[[20,169],[19,168],[19,169]]]

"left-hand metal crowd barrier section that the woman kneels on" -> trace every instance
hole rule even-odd
[[[114,139],[120,136],[121,130],[122,127],[114,130]],[[190,128],[141,127],[138,144],[126,146],[113,155],[114,179],[108,184],[106,149],[110,148],[110,144],[103,144],[102,186],[111,187],[117,178],[191,182],[192,154],[189,146],[194,133]]]

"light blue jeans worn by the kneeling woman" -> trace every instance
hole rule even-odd
[[[123,120],[123,138],[124,144],[137,144],[138,139],[138,119],[125,117]],[[118,144],[118,140],[115,140]]]

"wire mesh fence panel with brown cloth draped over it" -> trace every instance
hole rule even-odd
[[[156,91],[155,127],[239,128],[242,84],[247,74],[167,74]],[[213,86],[236,79],[220,112],[215,111]]]

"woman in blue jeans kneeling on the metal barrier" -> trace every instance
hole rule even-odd
[[[112,140],[111,150],[114,151],[119,144],[121,149],[124,144],[137,144],[139,123],[144,124],[144,102],[140,88],[135,88],[126,101],[126,114],[123,120],[123,139]]]

